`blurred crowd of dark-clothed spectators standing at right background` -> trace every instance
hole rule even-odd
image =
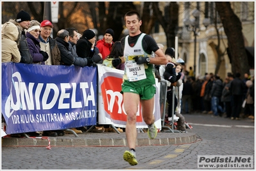
[[[244,73],[244,78],[241,73],[227,73],[223,80],[213,73],[195,78],[186,71],[182,93],[182,114],[212,114],[232,120],[249,117],[254,121],[254,76],[249,73]]]

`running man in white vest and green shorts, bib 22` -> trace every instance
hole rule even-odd
[[[148,136],[151,139],[157,137],[153,115],[154,94],[156,93],[153,64],[167,64],[167,59],[156,41],[140,31],[142,20],[137,11],[126,13],[124,21],[129,31],[129,35],[121,39],[124,56],[113,60],[112,64],[117,66],[125,63],[121,93],[123,93],[124,110],[127,114],[126,140],[130,150],[124,152],[123,158],[130,165],[137,165],[136,113],[141,102],[142,118],[148,124]],[[154,52],[155,57],[150,57],[154,56]]]

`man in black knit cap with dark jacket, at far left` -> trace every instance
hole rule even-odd
[[[21,10],[16,17],[16,20],[10,20],[10,22],[13,22],[16,26],[21,28],[21,38],[19,40],[19,52],[21,53],[21,62],[20,63],[26,63],[31,64],[33,62],[33,58],[30,54],[30,50],[28,50],[28,43],[26,41],[26,33],[25,29],[28,29],[30,27],[30,14],[26,11]]]

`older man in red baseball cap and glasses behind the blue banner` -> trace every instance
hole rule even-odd
[[[51,38],[51,31],[53,31],[53,24],[49,20],[43,20],[40,24],[41,33],[39,35],[41,50],[46,52],[49,58],[45,61],[47,65],[60,64],[60,50],[56,40]]]

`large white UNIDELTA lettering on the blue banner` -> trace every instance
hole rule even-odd
[[[20,77],[20,76],[19,76]],[[18,77],[18,78],[19,78]],[[21,80],[21,78],[20,78]],[[95,106],[95,91],[92,82],[38,83],[14,82],[15,92],[11,92],[6,107],[17,110],[69,109]],[[89,86],[90,85],[90,86]],[[14,98],[15,97],[15,100]],[[79,98],[78,98],[79,97]]]

